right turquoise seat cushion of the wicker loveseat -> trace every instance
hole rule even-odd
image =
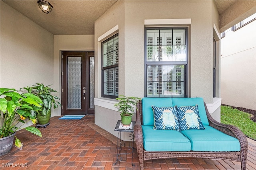
[[[191,142],[193,151],[240,151],[238,139],[226,135],[213,127],[204,125],[204,130],[181,131]]]

